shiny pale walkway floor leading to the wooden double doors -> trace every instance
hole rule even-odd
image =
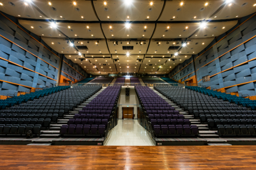
[[[108,133],[105,146],[155,146],[150,134],[136,119],[119,119],[118,124]]]

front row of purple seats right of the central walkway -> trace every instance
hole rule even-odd
[[[196,125],[154,125],[155,135],[198,135]]]

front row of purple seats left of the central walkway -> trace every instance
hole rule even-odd
[[[104,135],[105,125],[62,125],[61,135]]]

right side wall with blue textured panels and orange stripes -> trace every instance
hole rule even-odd
[[[206,49],[191,57],[191,64],[176,66],[169,76],[181,82],[196,71],[197,82],[202,86],[225,89],[250,96],[256,95],[256,16],[241,18],[238,24],[217,37]],[[195,62],[195,70],[184,69]],[[186,64],[185,64],[186,65]],[[193,66],[193,65],[192,65]],[[183,69],[182,69],[183,68]],[[185,71],[186,72],[186,71]],[[183,74],[183,75],[182,75]],[[210,76],[209,82],[202,77]]]

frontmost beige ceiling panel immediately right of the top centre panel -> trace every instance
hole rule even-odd
[[[183,2],[182,5],[181,2]],[[204,20],[209,18],[222,5],[223,2],[224,0],[166,1],[164,11],[159,18],[159,21]],[[208,4],[205,5],[206,3]]]

